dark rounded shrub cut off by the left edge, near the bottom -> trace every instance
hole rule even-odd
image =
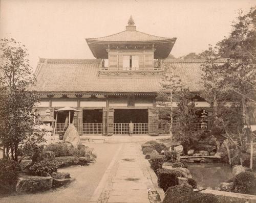
[[[15,189],[20,167],[17,162],[10,159],[0,159],[0,191]]]

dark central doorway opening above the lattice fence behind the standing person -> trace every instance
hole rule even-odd
[[[132,120],[133,123],[147,123],[147,109],[115,109],[114,123],[127,123]]]

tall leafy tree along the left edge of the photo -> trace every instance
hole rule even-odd
[[[18,161],[18,147],[35,147],[44,142],[44,132],[36,128],[38,115],[34,112],[40,96],[28,91],[35,78],[27,59],[27,49],[14,39],[1,39],[0,64],[0,143],[4,158]],[[29,150],[29,148],[27,149]]]

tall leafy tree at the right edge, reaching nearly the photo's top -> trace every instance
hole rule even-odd
[[[237,21],[232,24],[230,36],[217,45],[219,55],[228,57],[223,65],[222,77],[226,88],[237,95],[247,128],[251,131],[249,117],[254,117],[255,72],[256,72],[256,7],[247,14],[239,12]],[[253,133],[251,133],[253,135]],[[254,135],[255,136],[255,135]]]

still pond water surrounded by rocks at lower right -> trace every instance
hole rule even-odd
[[[197,185],[203,188],[216,189],[221,182],[231,178],[232,168],[224,163],[188,163]]]

